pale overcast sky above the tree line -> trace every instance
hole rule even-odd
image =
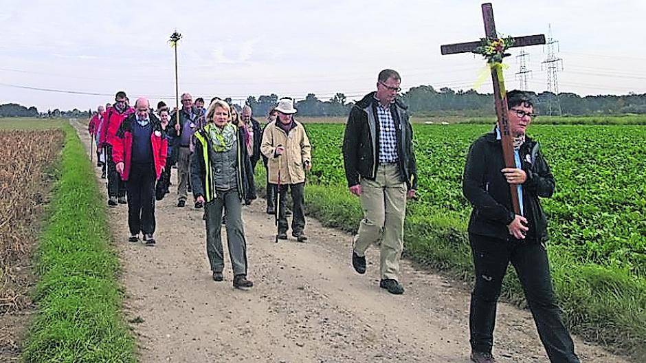
[[[168,37],[177,28],[179,90],[194,98],[276,93],[357,98],[383,68],[401,87],[470,89],[480,56],[441,56],[440,45],[484,36],[481,1],[8,1],[0,0],[0,104],[39,111],[96,108],[123,89],[175,104]],[[646,93],[646,1],[493,1],[506,35],[559,41],[561,92]],[[524,48],[532,91],[547,89],[547,49]],[[507,88],[520,48],[506,58]],[[487,79],[478,91],[490,92]],[[101,94],[57,93],[56,89]]]

